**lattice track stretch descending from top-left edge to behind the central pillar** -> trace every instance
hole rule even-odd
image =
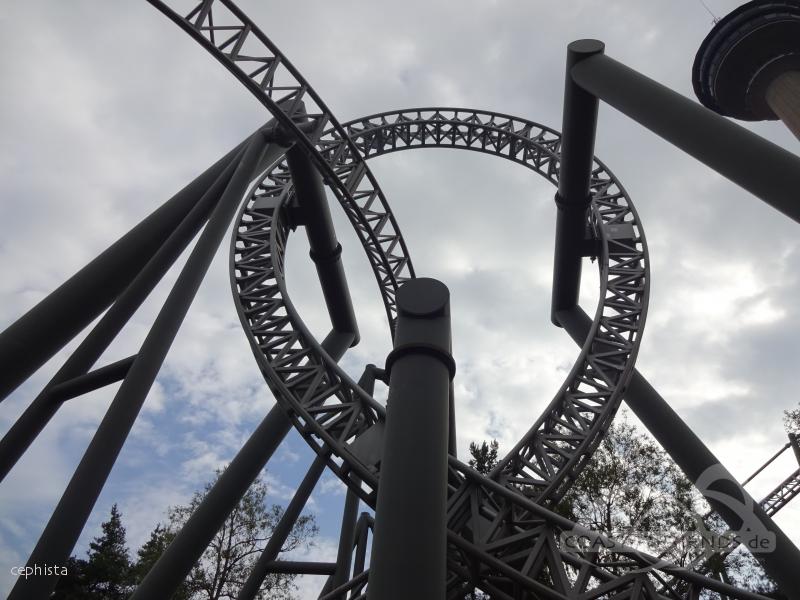
[[[185,4],[177,0],[147,1],[222,63],[320,169],[366,251],[394,332],[397,286],[414,277],[414,268],[386,198],[345,129],[288,58],[230,0],[195,1],[185,15],[174,8]],[[309,122],[313,127],[305,133],[298,125]],[[380,220],[379,231],[369,226],[370,219]]]

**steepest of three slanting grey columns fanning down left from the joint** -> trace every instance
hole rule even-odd
[[[178,328],[203,281],[220,242],[264,154],[264,136],[248,143],[222,199],[214,209],[186,265],[150,329],[64,495],[28,559],[27,565],[63,565],[88,519],[139,410],[153,385]],[[58,576],[17,579],[9,600],[45,600]]]

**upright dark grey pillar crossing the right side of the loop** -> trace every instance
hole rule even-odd
[[[558,325],[555,316],[558,311],[578,304],[597,129],[598,100],[572,80],[572,67],[591,56],[602,54],[603,48],[603,43],[597,40],[578,40],[567,46],[550,308],[550,318],[555,325]]]

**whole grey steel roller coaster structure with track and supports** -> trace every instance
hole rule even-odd
[[[757,558],[787,597],[800,598],[800,552],[772,520],[800,493],[800,470],[755,502],[635,369],[647,313],[648,250],[630,198],[593,155],[598,104],[617,108],[796,222],[800,159],[606,56],[596,40],[568,47],[561,133],[509,115],[443,107],[340,123],[231,0],[203,0],[188,13],[177,12],[173,2],[150,3],[220,61],[271,120],[0,334],[5,397],[99,317],[0,440],[1,477],[61,403],[122,382],[29,564],[63,564],[70,555],[236,219],[230,246],[236,310],[277,403],[133,598],[172,596],[292,427],[316,459],[240,600],[256,597],[266,575],[278,571],[326,576],[320,586],[325,600],[455,599],[475,588],[499,600],[762,598],[703,574],[702,564],[678,567],[554,511],[623,398],[731,530],[768,534],[771,551]],[[367,165],[376,156],[427,147],[493,154],[557,188],[551,319],[581,351],[542,416],[488,475],[455,453],[448,290],[415,276]],[[339,366],[359,331],[326,186],[363,245],[394,344],[385,364],[366,365],[358,381]],[[310,334],[287,293],[285,249],[297,228],[308,236],[330,316],[322,341]],[[195,237],[139,352],[93,368]],[[578,305],[584,257],[597,258],[600,272],[593,318]],[[386,407],[372,397],[376,380],[389,386]],[[797,451],[795,440],[783,450],[792,445]],[[336,562],[277,561],[326,470],[348,488]],[[359,514],[362,502],[371,510]],[[604,548],[569,548],[564,532],[603,540]],[[10,598],[44,600],[55,584],[55,577],[20,578]]]

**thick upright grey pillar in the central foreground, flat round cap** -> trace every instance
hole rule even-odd
[[[397,292],[369,600],[445,597],[449,295],[435,279]]]

